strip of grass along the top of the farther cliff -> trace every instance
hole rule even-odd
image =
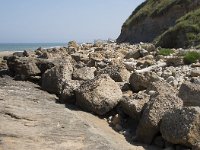
[[[130,28],[148,16],[161,16],[172,6],[185,7],[191,3],[192,0],[146,0],[133,11],[123,27]]]

